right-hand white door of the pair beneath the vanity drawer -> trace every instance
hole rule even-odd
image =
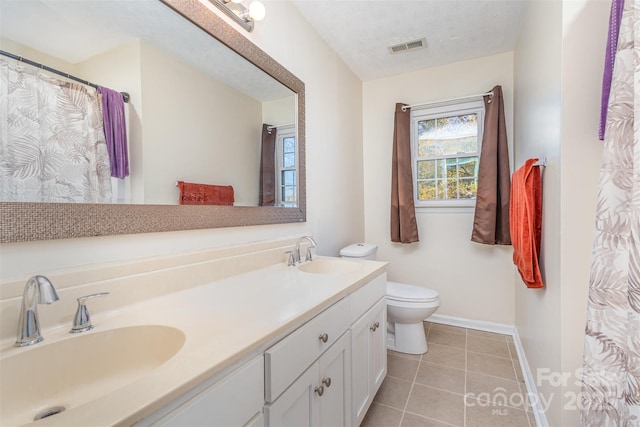
[[[350,334],[347,331],[318,360],[323,387],[319,396],[320,426],[346,427],[351,424]]]

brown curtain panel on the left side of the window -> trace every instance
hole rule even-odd
[[[411,173],[411,109],[396,104],[393,129],[393,159],[391,164],[391,241],[413,243],[418,239],[416,208],[413,203]]]

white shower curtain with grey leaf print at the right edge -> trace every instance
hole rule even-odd
[[[624,3],[596,208],[584,426],[640,425],[640,8],[636,0]]]

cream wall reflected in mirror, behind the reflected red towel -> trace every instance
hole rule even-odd
[[[145,203],[176,204],[176,181],[231,185],[258,205],[262,103],[141,45]]]

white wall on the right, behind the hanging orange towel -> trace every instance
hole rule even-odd
[[[516,326],[552,426],[579,425],[576,370],[602,151],[597,135],[609,7],[604,0],[530,2],[516,48],[516,164],[549,158],[541,254],[546,288],[516,287]],[[539,370],[567,380],[545,380]]]

